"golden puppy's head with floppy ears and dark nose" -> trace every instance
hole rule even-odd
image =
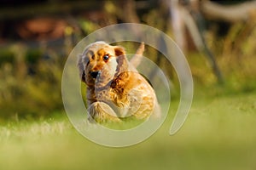
[[[81,80],[88,86],[94,86],[98,76],[109,82],[128,67],[125,49],[106,42],[91,43],[79,56],[78,67]]]

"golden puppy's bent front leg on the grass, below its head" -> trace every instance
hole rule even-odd
[[[92,103],[89,108],[89,121],[92,122],[93,120],[96,122],[120,122],[118,116],[116,116],[113,109],[104,102],[94,102]]]

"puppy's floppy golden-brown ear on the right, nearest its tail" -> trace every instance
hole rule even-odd
[[[117,77],[121,72],[124,72],[124,71],[127,71],[128,69],[128,60],[126,59],[126,56],[125,56],[125,48],[122,48],[122,47],[119,47],[119,46],[116,46],[114,48],[114,53],[115,53],[115,56],[117,57],[117,68],[116,68],[116,75],[115,77]]]

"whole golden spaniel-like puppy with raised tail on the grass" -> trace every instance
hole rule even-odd
[[[90,121],[120,122],[127,116],[147,119],[153,113],[159,115],[154,89],[133,66],[140,62],[143,49],[142,43],[131,63],[120,46],[94,42],[84,49],[78,67],[87,85]]]

